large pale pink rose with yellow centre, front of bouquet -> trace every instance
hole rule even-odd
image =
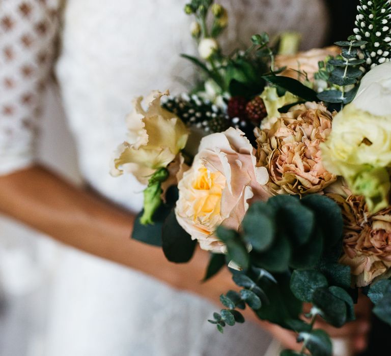
[[[225,252],[214,235],[220,224],[239,229],[250,199],[267,200],[266,168],[256,167],[255,149],[230,128],[202,139],[192,167],[178,184],[178,223],[204,250]]]

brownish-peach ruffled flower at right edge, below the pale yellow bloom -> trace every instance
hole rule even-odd
[[[369,214],[364,198],[330,194],[344,216],[344,254],[340,263],[349,265],[358,287],[370,284],[391,268],[391,208]]]

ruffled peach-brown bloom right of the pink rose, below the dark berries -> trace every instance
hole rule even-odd
[[[319,149],[331,121],[324,105],[307,102],[282,114],[270,130],[258,129],[258,166],[268,169],[274,194],[316,193],[336,181],[323,167]]]

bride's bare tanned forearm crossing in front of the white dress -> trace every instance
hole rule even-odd
[[[211,301],[233,287],[228,271],[200,283],[208,254],[197,251],[188,264],[168,262],[160,248],[129,238],[134,216],[74,187],[42,167],[0,177],[0,212],[54,239],[154,276]]]

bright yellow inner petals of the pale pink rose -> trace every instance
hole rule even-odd
[[[226,186],[226,177],[220,172],[210,172],[201,167],[192,182],[197,191],[194,202],[194,220],[220,213],[221,194]]]

